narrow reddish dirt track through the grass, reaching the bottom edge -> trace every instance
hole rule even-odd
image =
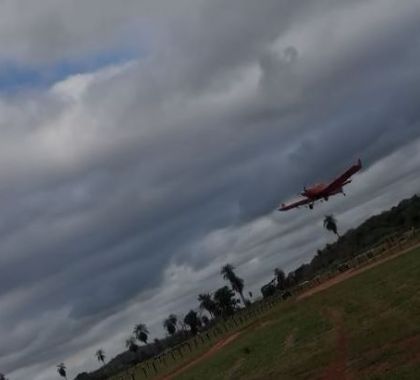
[[[322,380],[351,380],[347,370],[347,334],[343,324],[343,318],[337,310],[329,310],[328,318],[334,324],[336,334],[335,359],[325,371]]]

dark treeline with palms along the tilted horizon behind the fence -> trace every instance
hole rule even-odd
[[[392,233],[420,227],[420,197],[415,195],[411,199],[404,200],[398,206],[369,218],[359,227],[347,231],[342,236],[338,233],[337,221],[334,216],[328,215],[325,217],[324,227],[337,235],[337,241],[318,250],[310,263],[301,265],[287,275],[281,268],[275,268],[273,278],[261,289],[263,297],[269,297],[280,291],[283,298],[287,298],[290,296],[289,289],[291,287],[308,281],[332,266],[338,266],[340,263],[368,250],[370,247],[379,244],[384,237]],[[79,374],[76,380],[106,379],[186,341],[197,332],[214,326],[219,319],[232,316],[242,308],[240,306],[241,301],[245,307],[250,305],[251,301],[244,297],[245,282],[237,276],[235,268],[231,264],[226,264],[221,268],[221,275],[230,287],[224,286],[212,293],[199,294],[197,298],[199,307],[197,310],[190,310],[183,318],[174,314],[169,315],[162,322],[162,326],[167,332],[165,338],[155,339],[152,343],[149,343],[147,326],[141,323],[137,324],[133,329],[133,335],[125,342],[127,351],[105,364],[105,353],[102,349],[98,350],[96,357],[102,367],[89,374]],[[236,298],[236,295],[239,296],[241,301]],[[249,292],[249,296],[252,298],[251,292]],[[58,372],[66,378],[64,364],[58,366]],[[0,377],[0,380],[3,379],[4,376],[3,378]]]

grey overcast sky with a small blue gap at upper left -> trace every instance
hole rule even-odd
[[[418,0],[2,1],[0,372],[94,370],[418,192],[418,36]]]

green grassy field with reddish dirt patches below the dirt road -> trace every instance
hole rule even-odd
[[[420,379],[420,249],[276,306],[174,378]]]

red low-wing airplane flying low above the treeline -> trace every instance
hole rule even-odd
[[[320,183],[314,186],[311,186],[309,189],[306,187],[303,189],[301,195],[305,197],[297,202],[290,203],[288,205],[282,204],[281,207],[278,209],[279,211],[287,211],[291,210],[292,208],[300,207],[308,205],[309,208],[312,210],[314,208],[314,203],[318,200],[325,200],[328,201],[329,197],[342,193],[346,195],[343,191],[343,187],[348,185],[351,182],[350,177],[357,173],[362,168],[362,161],[360,159],[350,167],[346,172],[342,175],[337,177],[329,184]]]

